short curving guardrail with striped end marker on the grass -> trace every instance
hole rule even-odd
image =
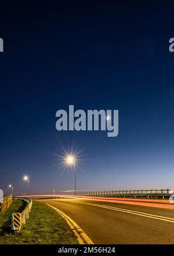
[[[26,198],[14,197],[14,199],[19,199],[26,202],[26,207],[22,212],[17,212],[12,214],[12,230],[20,232],[22,225],[26,224],[26,219],[29,219],[29,212],[31,212],[32,200],[31,198],[27,198],[27,197]],[[15,223],[14,223],[14,218],[16,214],[20,215],[18,226],[15,226]]]

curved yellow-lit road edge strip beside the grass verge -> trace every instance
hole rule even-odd
[[[84,232],[84,230],[82,230],[77,225],[77,223],[75,223],[73,221],[73,219],[71,219],[68,215],[64,214],[64,212],[60,211],[56,207],[53,207],[50,204],[47,204],[47,205],[49,205],[49,207],[52,207],[53,209],[55,209],[57,212],[59,212],[59,214],[61,216],[63,216],[64,219],[66,219],[68,225],[71,227],[75,236],[77,237],[77,240],[78,240],[79,244],[93,244],[92,240],[90,240],[90,238],[87,236],[87,234]]]

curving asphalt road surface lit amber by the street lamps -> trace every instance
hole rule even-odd
[[[95,244],[174,244],[173,209],[68,198],[41,201],[70,216]]]

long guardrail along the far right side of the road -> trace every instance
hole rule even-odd
[[[146,189],[146,190],[113,190],[113,191],[76,191],[63,193],[64,195],[88,195],[95,197],[129,197],[129,198],[162,198],[166,199],[173,194],[173,189]]]

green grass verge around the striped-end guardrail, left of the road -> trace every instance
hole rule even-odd
[[[18,208],[17,208],[18,207]],[[67,222],[52,208],[33,201],[30,219],[20,233],[10,231],[10,214],[23,207],[14,200],[8,211],[0,215],[0,244],[77,244],[77,239]],[[8,219],[8,221],[7,221]]]

